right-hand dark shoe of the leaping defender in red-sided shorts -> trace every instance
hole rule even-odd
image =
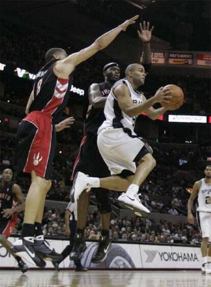
[[[35,238],[35,252],[46,261],[60,261],[63,256],[57,253],[54,249],[50,249],[49,243],[44,240],[44,236],[40,235]]]

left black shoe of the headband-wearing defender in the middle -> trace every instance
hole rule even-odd
[[[84,251],[87,249],[85,238],[81,233],[75,233],[74,236],[74,245],[70,253],[71,260],[77,261],[80,260]]]

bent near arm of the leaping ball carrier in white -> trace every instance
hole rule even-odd
[[[168,99],[171,98],[171,96],[169,96],[169,89],[163,89],[163,87],[160,88],[153,97],[148,100],[145,98],[146,100],[139,105],[133,104],[130,98],[129,89],[124,84],[117,86],[114,93],[117,97],[120,109],[129,117],[138,116],[141,113],[146,112],[156,102],[168,102]]]

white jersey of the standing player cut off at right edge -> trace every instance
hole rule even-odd
[[[197,211],[211,212],[211,184],[206,184],[205,178],[202,178],[200,181]]]

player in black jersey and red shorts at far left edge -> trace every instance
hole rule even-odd
[[[13,172],[7,168],[2,173],[0,190],[0,243],[15,257],[20,270],[24,273],[29,269],[23,260],[11,250],[12,243],[8,240],[12,229],[17,223],[18,212],[24,210],[25,200],[21,188],[12,181]],[[18,205],[17,205],[18,203]]]

